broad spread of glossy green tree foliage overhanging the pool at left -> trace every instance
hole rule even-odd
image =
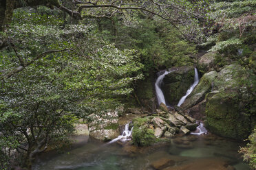
[[[23,22],[26,14],[19,12],[19,22],[1,32],[11,43],[0,55],[0,141],[12,144],[3,145],[9,156],[14,148],[23,153],[23,166],[30,167],[48,144],[67,140],[77,118],[119,106],[118,96],[142,78],[142,64],[136,51],[116,49],[90,25],[60,29],[62,21],[40,14]]]

